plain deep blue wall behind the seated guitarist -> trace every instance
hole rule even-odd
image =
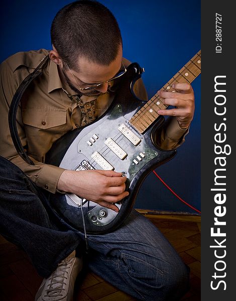
[[[59,9],[71,1],[6,1],[1,4],[0,61],[19,52],[51,49],[50,26]],[[145,67],[142,78],[149,98],[201,48],[200,0],[101,0],[116,17],[124,57]],[[186,202],[200,210],[200,76],[192,83],[195,115],[177,156],[156,172]],[[136,208],[195,211],[181,203],[151,173],[143,183]]]

